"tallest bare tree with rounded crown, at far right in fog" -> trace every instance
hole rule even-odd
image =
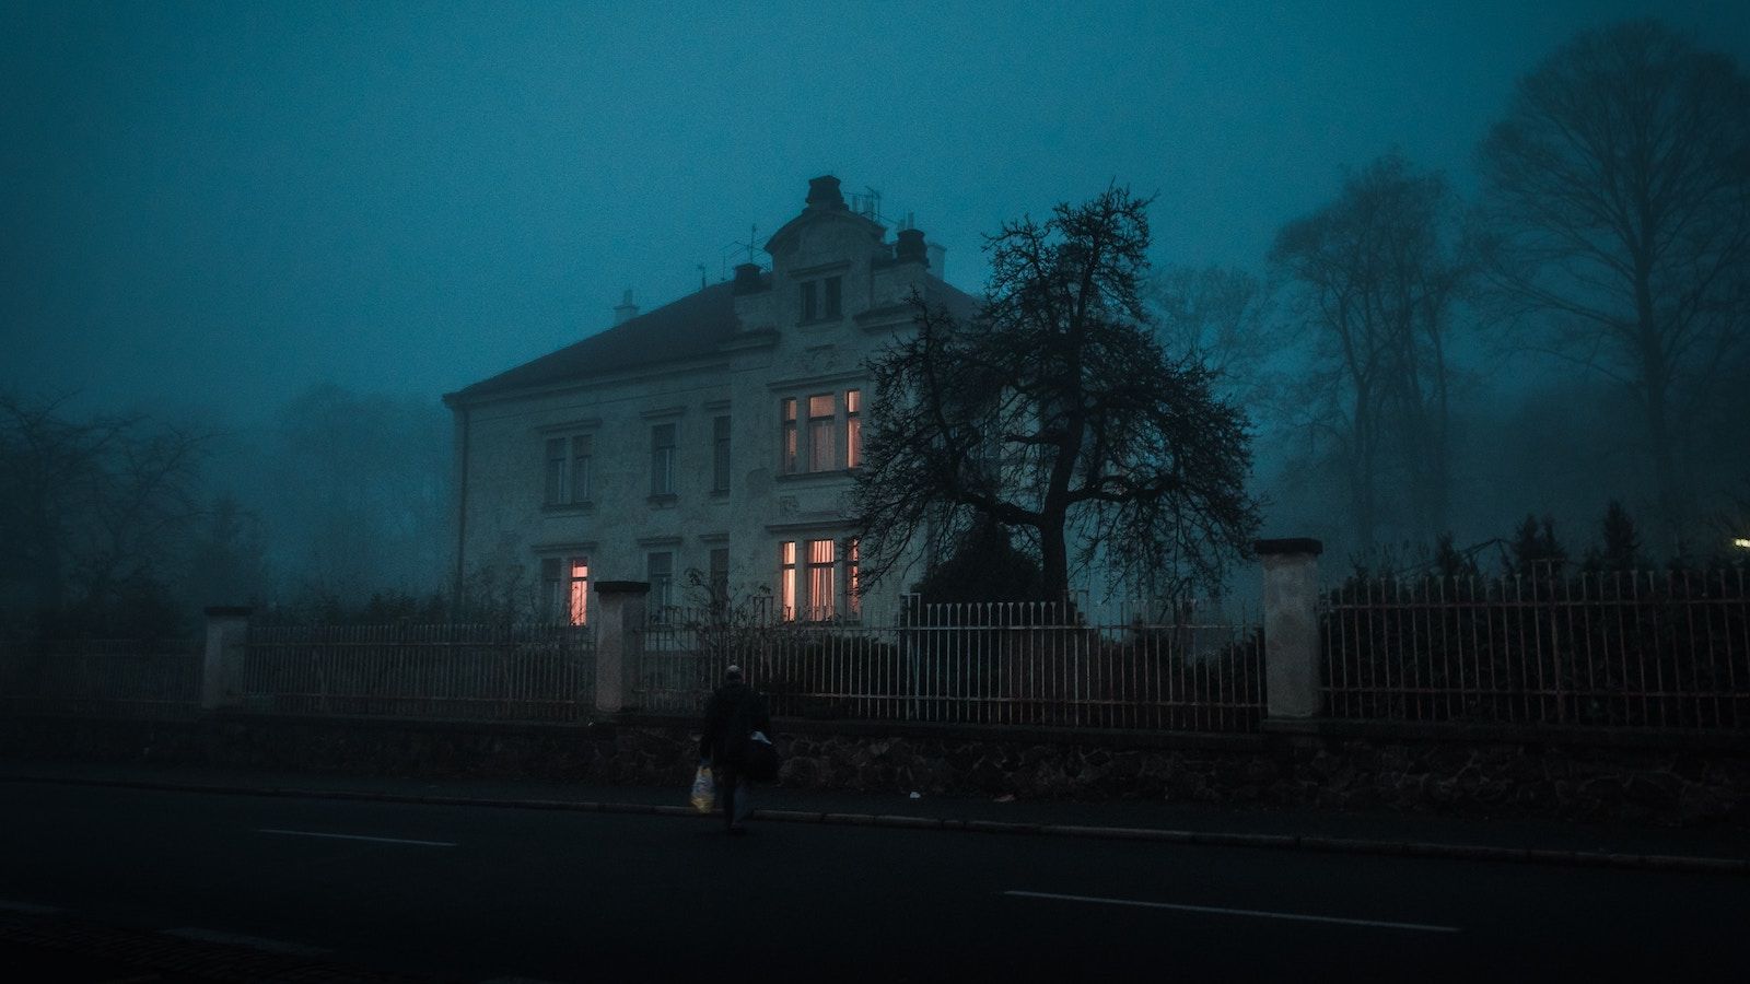
[[[1633,394],[1682,527],[1682,431],[1750,340],[1750,82],[1654,21],[1586,32],[1521,79],[1480,166],[1526,345]]]

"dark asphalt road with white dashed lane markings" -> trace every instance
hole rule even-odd
[[[1750,879],[0,786],[0,909],[444,980],[1750,979]]]

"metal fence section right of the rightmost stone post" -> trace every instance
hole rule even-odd
[[[1323,602],[1334,718],[1750,728],[1743,571],[1349,583]]]

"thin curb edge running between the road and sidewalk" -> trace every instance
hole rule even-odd
[[[315,800],[355,800],[382,804],[455,805],[488,809],[544,809],[569,812],[609,812],[637,816],[674,816],[712,819],[690,805],[625,804],[600,800],[495,800],[483,797],[427,797],[366,790],[306,790],[294,786],[214,786],[203,783],[164,783],[149,779],[82,779],[49,776],[0,776],[0,783],[46,783],[58,786],[107,786],[166,793],[210,793],[226,797],[289,797]],[[1292,833],[1222,833],[1206,830],[1164,830],[1152,826],[1088,826],[1064,823],[1015,823],[1001,819],[947,819],[933,816],[812,812],[756,809],[752,819],[777,823],[821,823],[844,826],[887,826],[901,830],[961,830],[970,833],[1031,833],[1043,837],[1087,837],[1097,840],[1152,840],[1158,844],[1195,844],[1204,847],[1264,847],[1276,851],[1318,851],[1330,854],[1376,854],[1409,858],[1447,858],[1463,861],[1510,861],[1566,865],[1586,868],[1633,868],[1661,872],[1699,872],[1750,875],[1750,858],[1710,858],[1701,854],[1619,854],[1605,851],[1566,851],[1540,847],[1493,847],[1484,844],[1440,844],[1430,840],[1377,840],[1360,837],[1311,837]]]

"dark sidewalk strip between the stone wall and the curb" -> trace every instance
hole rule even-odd
[[[228,795],[696,816],[688,790],[511,779],[396,779],[186,765],[0,762],[5,783],[79,783]],[[1521,863],[1750,874],[1750,830],[1671,830],[1556,819],[1461,819],[1410,812],[1251,809],[1167,802],[998,802],[763,786],[756,821],[858,823],[959,833],[1122,837],[1181,844],[1451,856]]]

